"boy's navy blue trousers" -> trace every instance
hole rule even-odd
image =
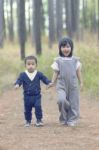
[[[25,120],[31,123],[32,108],[35,109],[35,117],[37,120],[42,119],[41,95],[24,96],[24,116]]]

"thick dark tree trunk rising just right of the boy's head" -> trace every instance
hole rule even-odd
[[[40,55],[41,48],[41,0],[33,0],[33,32],[36,54]]]

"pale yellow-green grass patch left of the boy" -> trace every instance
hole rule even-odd
[[[21,61],[18,57],[18,47],[6,43],[4,49],[0,49],[0,93],[12,87],[18,74]]]

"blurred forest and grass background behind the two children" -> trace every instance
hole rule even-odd
[[[27,55],[51,79],[64,36],[80,57],[84,92],[99,98],[99,0],[0,0],[0,93],[12,88]]]

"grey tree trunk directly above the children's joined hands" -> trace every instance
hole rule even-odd
[[[49,47],[55,42],[54,0],[48,0]]]

